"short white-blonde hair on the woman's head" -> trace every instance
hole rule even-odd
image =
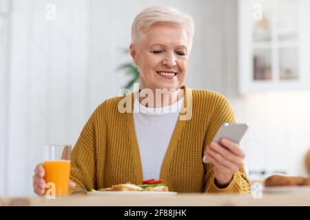
[[[132,23],[132,43],[139,48],[149,28],[161,22],[183,25],[185,30],[187,30],[189,50],[192,49],[195,27],[194,21],[189,15],[183,14],[171,6],[154,6],[140,12]]]

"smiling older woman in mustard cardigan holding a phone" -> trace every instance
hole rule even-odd
[[[211,142],[221,124],[235,121],[228,100],[183,85],[193,36],[192,18],[174,8],[152,7],[137,15],[130,54],[141,88],[105,100],[92,113],[72,151],[70,188],[161,178],[176,192],[249,193],[240,146]],[[211,163],[203,163],[204,155]],[[43,177],[39,164],[33,178],[37,195],[44,193]]]

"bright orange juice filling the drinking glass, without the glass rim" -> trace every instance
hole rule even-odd
[[[69,192],[70,160],[48,160],[44,162],[46,184],[55,184],[56,196],[65,196]]]

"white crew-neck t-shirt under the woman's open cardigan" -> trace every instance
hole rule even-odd
[[[141,156],[143,179],[159,179],[183,98],[162,108],[149,108],[134,99],[134,128]],[[137,112],[138,113],[135,113]]]

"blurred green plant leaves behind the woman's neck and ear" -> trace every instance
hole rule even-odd
[[[129,50],[124,50],[124,53],[129,54]],[[134,83],[139,83],[140,77],[138,67],[133,62],[127,62],[118,67],[118,71],[124,71],[127,76],[130,76],[128,83],[124,86],[126,89],[132,89]]]

